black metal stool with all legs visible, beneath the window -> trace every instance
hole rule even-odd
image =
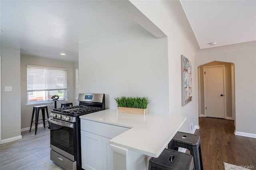
[[[38,120],[39,111],[40,110],[42,111],[42,119]],[[45,122],[48,122],[49,123],[49,127],[50,127],[50,122],[45,119],[45,112],[44,112],[44,110],[46,110],[46,115],[47,115],[47,120],[48,120],[49,119],[49,115],[48,115],[48,108],[47,108],[46,105],[40,105],[40,106],[34,106],[33,107],[33,113],[32,113],[32,119],[31,119],[31,124],[30,124],[30,130],[31,130],[31,127],[32,127],[32,123],[34,123],[35,124],[35,134],[36,134],[36,131],[37,131],[38,123],[43,123],[44,124],[44,128],[45,128]],[[36,111],[36,119],[35,119],[35,121],[33,121],[35,111]],[[38,122],[38,121],[42,121],[42,122]],[[30,130],[29,130],[29,132],[30,132]]]

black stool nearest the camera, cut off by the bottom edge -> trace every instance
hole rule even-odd
[[[148,170],[194,170],[193,156],[164,149],[158,158],[150,158]]]

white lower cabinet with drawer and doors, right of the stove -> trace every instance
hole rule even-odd
[[[85,170],[113,170],[111,138],[130,128],[81,119],[81,158]]]

